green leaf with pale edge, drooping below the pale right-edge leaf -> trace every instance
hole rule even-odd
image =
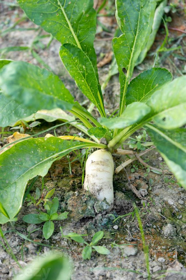
[[[146,127],[168,167],[186,189],[186,129],[166,131],[154,125],[146,125]]]

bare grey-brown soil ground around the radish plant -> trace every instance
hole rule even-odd
[[[9,1],[8,3],[14,3]],[[173,1],[172,1],[173,3]],[[186,29],[186,19],[184,13],[183,2],[178,3],[178,9],[175,13],[170,13],[172,22],[170,27],[180,27]],[[1,4],[0,4],[1,5]],[[8,7],[1,5],[0,26],[2,31],[11,27],[23,15],[18,7]],[[110,33],[114,32],[116,22],[114,17],[109,20],[106,17],[100,18]],[[1,48],[9,46],[31,46],[37,35],[36,30],[23,30],[20,28],[37,28],[36,25],[29,20],[24,20],[16,25],[15,30],[0,38]],[[158,60],[158,66],[166,67],[173,73],[174,77],[184,73],[186,52],[185,34],[177,31],[169,30],[169,39],[167,47],[173,44],[181,46],[171,54],[168,52],[161,55]],[[46,34],[44,32],[42,35]],[[102,31],[96,35],[95,49],[98,61],[102,60],[103,54],[111,51],[111,41],[102,40],[108,35]],[[144,62],[135,68],[134,77],[141,71],[152,67],[154,58],[153,52],[162,43],[165,37],[164,26],[160,27],[156,36],[156,41],[148,53]],[[43,44],[47,44],[49,37],[42,39]],[[58,55],[60,43],[53,40],[48,49],[35,49],[42,59],[51,67],[52,71],[63,79],[65,85],[70,89],[71,93],[80,102],[86,105],[82,93],[79,91],[71,77],[64,69]],[[2,55],[2,53],[1,53]],[[2,55],[3,58],[28,61],[37,63],[30,52],[17,51],[8,52]],[[38,63],[37,63],[38,64]],[[102,83],[108,73],[109,65],[99,69],[100,82]],[[117,108],[119,100],[119,83],[118,76],[111,78],[105,89],[105,106],[108,111]],[[97,114],[96,111],[94,112]],[[52,127],[56,123],[46,123],[42,121],[40,130]],[[6,131],[9,128],[6,128]],[[36,128],[37,130],[37,128]],[[35,130],[35,132],[37,132]],[[65,134],[69,127],[61,127],[56,129],[57,135]],[[53,133],[53,132],[52,132]],[[78,133],[77,130],[70,127],[70,133]],[[139,135],[140,131],[137,133]],[[9,135],[4,135],[9,136]],[[135,137],[135,136],[134,136]],[[5,139],[1,145],[5,144]],[[128,149],[128,146],[124,146]],[[42,225],[30,225],[22,220],[22,217],[28,213],[37,213],[38,209],[32,204],[27,206],[25,201],[20,213],[18,221],[15,223],[16,231],[12,230],[11,225],[2,225],[5,237],[11,246],[13,253],[16,255],[20,265],[24,267],[36,255],[46,253],[51,249],[63,251],[73,260],[72,280],[128,280],[128,279],[147,279],[146,263],[143,253],[142,239],[140,235],[139,225],[133,215],[120,217],[117,221],[115,218],[133,212],[133,203],[140,210],[145,241],[149,247],[150,273],[152,279],[186,279],[185,255],[186,255],[186,192],[176,183],[172,175],[157,174],[150,171],[147,175],[146,168],[137,160],[127,166],[126,171],[129,175],[131,183],[144,193],[144,199],[138,199],[129,188],[129,181],[125,171],[119,174],[114,173],[114,207],[109,213],[108,205],[98,203],[96,199],[89,193],[82,191],[82,169],[78,160],[75,160],[75,154],[70,154],[72,175],[69,171],[69,163],[67,158],[63,158],[53,163],[48,174],[44,178],[47,189],[55,187],[55,196],[59,198],[58,212],[68,211],[68,219],[64,221],[55,221],[55,231],[49,240],[45,240],[42,235]],[[114,155],[116,166],[128,159],[127,156]],[[152,150],[143,156],[143,160],[153,167],[167,169],[162,157],[156,150]],[[133,168],[135,172],[131,172]],[[30,185],[30,183],[29,183]],[[31,189],[30,194],[35,196],[35,188],[41,189],[41,178],[38,178]],[[46,189],[45,189],[46,191]],[[110,215],[112,214],[112,215]],[[109,250],[109,255],[100,255],[96,252],[92,253],[89,261],[83,261],[81,257],[83,245],[70,242],[61,238],[59,227],[63,228],[63,233],[76,232],[79,234],[87,234],[85,239],[90,242],[91,237],[99,230],[104,231],[104,238],[99,245],[105,245]],[[38,229],[34,231],[35,229]],[[31,233],[34,231],[33,233]],[[19,235],[19,233],[27,236],[27,240]],[[29,238],[29,239],[28,239]],[[0,279],[12,279],[19,271],[17,263],[9,254],[0,246]],[[175,274],[176,273],[176,274]]]

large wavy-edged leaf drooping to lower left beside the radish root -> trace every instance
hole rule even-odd
[[[103,145],[105,146],[105,145]],[[0,155],[0,202],[12,219],[22,205],[28,180],[44,177],[53,161],[70,151],[100,144],[73,142],[57,137],[28,139],[17,143]],[[0,213],[0,223],[7,218]]]

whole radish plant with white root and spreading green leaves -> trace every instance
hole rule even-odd
[[[26,185],[45,176],[52,163],[71,151],[96,148],[86,162],[84,189],[113,205],[112,153],[144,127],[179,183],[186,187],[186,78],[172,81],[164,68],[151,68],[131,80],[134,67],[152,34],[155,0],[116,0],[121,35],[113,51],[121,85],[118,113],[108,117],[98,79],[93,42],[96,11],[93,0],[18,0],[26,15],[60,43],[60,58],[82,93],[97,107],[96,119],[63,82],[47,69],[23,61],[1,60],[0,125],[6,127],[38,110],[72,113],[91,140],[64,135],[30,138],[0,155],[0,223],[15,220]],[[130,81],[131,80],[131,81]],[[50,136],[50,135],[48,135]],[[3,149],[3,148],[2,148]],[[3,214],[4,213],[4,214]]]

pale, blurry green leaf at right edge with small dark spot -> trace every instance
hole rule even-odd
[[[155,91],[146,101],[152,120],[159,127],[174,129],[186,123],[186,77],[182,76]]]

